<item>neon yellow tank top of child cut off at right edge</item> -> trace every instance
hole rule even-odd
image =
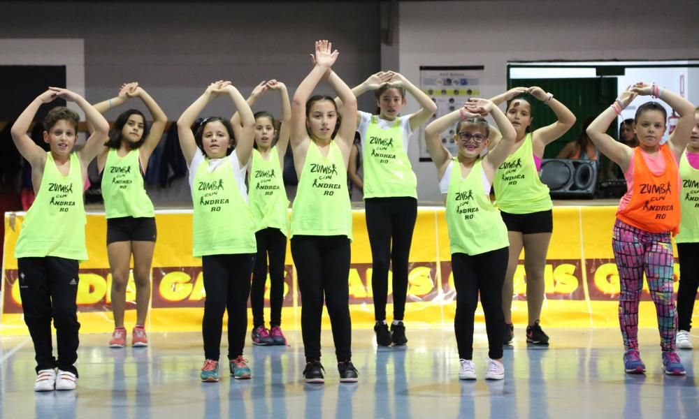
[[[682,219],[675,242],[696,243],[699,242],[699,170],[689,164],[686,150],[679,159],[679,179],[682,182],[679,194]]]

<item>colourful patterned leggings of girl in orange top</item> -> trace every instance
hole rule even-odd
[[[675,351],[677,310],[672,293],[672,256],[670,233],[649,233],[617,219],[612,237],[614,258],[617,260],[621,293],[619,294],[619,325],[624,348],[638,349],[638,302],[646,274],[651,298],[658,313],[663,351]]]

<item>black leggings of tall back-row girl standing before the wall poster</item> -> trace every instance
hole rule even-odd
[[[393,269],[394,320],[403,320],[408,294],[408,256],[417,219],[417,200],[410,197],[366,198],[366,230],[371,245],[371,288],[375,321],[386,320],[389,263]]]

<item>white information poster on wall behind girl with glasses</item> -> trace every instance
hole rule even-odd
[[[420,66],[421,89],[437,104],[437,112],[430,122],[459,109],[468,98],[480,97],[483,70],[483,66]],[[420,161],[430,161],[424,135],[425,127],[421,126]],[[456,155],[453,128],[441,133],[440,140]]]

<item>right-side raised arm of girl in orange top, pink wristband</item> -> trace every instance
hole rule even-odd
[[[682,96],[674,94],[667,89],[663,89],[655,83],[636,83],[631,87],[631,90],[639,95],[656,96],[658,99],[670,105],[670,108],[674,109],[675,112],[679,114],[679,121],[677,121],[675,131],[672,131],[670,138],[668,138],[668,145],[670,149],[672,149],[672,153],[677,157],[677,161],[679,161],[679,158],[682,156],[684,149],[689,143],[692,129],[694,128],[694,105]]]

